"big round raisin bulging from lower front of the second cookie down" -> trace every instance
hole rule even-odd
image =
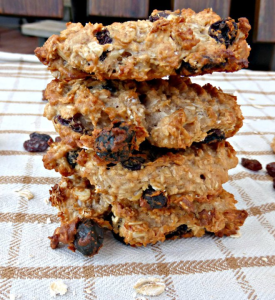
[[[136,134],[129,123],[114,122],[102,129],[95,139],[96,154],[105,161],[128,160],[135,145]]]

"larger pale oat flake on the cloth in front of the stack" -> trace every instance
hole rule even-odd
[[[158,296],[165,291],[166,285],[160,278],[141,278],[134,285],[137,293],[144,296]]]

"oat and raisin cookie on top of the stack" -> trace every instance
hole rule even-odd
[[[109,26],[68,23],[35,50],[54,77],[76,79],[161,78],[234,72],[248,66],[250,25],[221,19],[211,9],[195,13],[154,10],[149,20]]]

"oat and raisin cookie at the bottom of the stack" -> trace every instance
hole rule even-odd
[[[51,190],[50,201],[59,209],[61,226],[50,237],[84,255],[94,255],[103,245],[103,228],[131,246],[146,246],[167,239],[201,237],[205,233],[230,236],[243,225],[247,212],[235,207],[234,196],[222,190],[218,196],[197,198],[144,194],[138,201],[117,200],[96,194],[88,180],[62,178]]]

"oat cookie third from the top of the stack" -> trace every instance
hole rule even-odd
[[[78,153],[73,166],[67,158],[71,151]],[[46,169],[64,176],[88,178],[96,193],[135,201],[150,187],[168,195],[217,194],[238,159],[226,141],[196,144],[181,151],[144,143],[128,160],[117,163],[107,163],[94,151],[73,149],[60,142],[51,145],[43,162]]]

